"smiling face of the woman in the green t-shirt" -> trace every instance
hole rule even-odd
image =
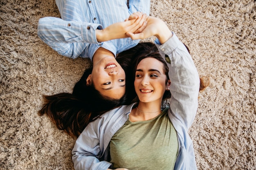
[[[141,60],[136,69],[134,86],[140,102],[162,102],[166,90],[162,62],[152,57]]]

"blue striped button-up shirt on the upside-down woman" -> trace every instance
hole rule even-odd
[[[38,37],[60,55],[91,60],[100,46],[116,55],[139,42],[131,38],[97,42],[96,29],[122,22],[137,11],[149,15],[150,10],[150,0],[56,0],[56,5],[61,18],[40,18]]]

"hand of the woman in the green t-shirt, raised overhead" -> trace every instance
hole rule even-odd
[[[146,23],[146,27],[140,33],[128,32],[126,35],[132,38],[132,40],[145,39],[155,35],[161,44],[173,36],[168,26],[159,18],[148,16]]]

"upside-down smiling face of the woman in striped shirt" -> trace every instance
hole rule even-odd
[[[125,78],[125,72],[115,57],[106,56],[94,63],[92,74],[86,81],[92,82],[101,95],[120,99],[125,93]]]

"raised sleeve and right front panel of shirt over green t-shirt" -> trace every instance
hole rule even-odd
[[[164,44],[155,41],[169,67],[171,102],[168,115],[177,132],[179,153],[175,170],[196,170],[193,142],[188,130],[198,108],[200,79],[186,47],[173,34]]]

